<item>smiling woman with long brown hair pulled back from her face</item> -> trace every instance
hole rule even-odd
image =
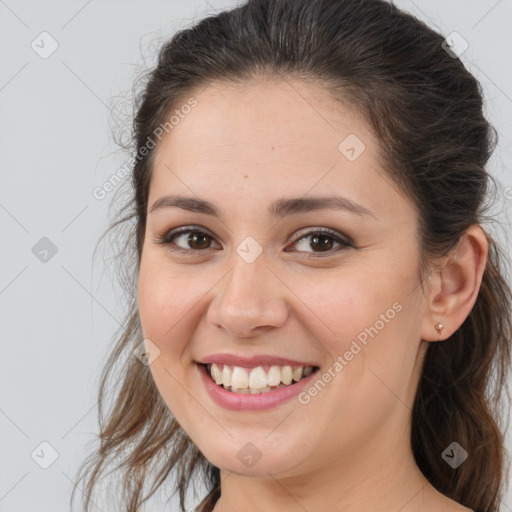
[[[134,128],[86,509],[118,457],[130,512],[172,478],[185,510],[197,472],[203,512],[497,510],[495,140],[443,36],[382,0],[249,1],[163,46]]]

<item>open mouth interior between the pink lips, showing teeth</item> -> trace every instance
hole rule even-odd
[[[258,395],[291,387],[309,375],[318,366],[270,366],[245,368],[223,364],[202,364],[206,374],[217,386],[238,394]]]

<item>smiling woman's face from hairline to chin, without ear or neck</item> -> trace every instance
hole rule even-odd
[[[219,83],[193,97],[156,150],[138,283],[163,400],[209,461],[238,474],[318,475],[399,456],[427,344],[424,299],[416,213],[379,167],[375,138],[298,81]],[[218,216],[191,203],[151,211],[169,195]],[[331,196],[361,208],[307,208]],[[302,207],[271,214],[292,199]],[[177,228],[191,231],[157,243]],[[319,369],[269,405],[206,386],[198,362],[212,354]],[[242,386],[234,366],[249,376],[259,365],[228,366]]]

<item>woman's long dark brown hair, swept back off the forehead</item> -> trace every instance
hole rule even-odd
[[[99,447],[79,472],[86,511],[114,461],[108,474],[119,471],[118,503],[128,512],[139,510],[170,475],[182,510],[196,473],[210,491],[207,510],[220,495],[219,468],[173,418],[149,367],[133,357],[143,339],[136,287],[155,154],[154,148],[141,151],[148,140],[185,98],[214,81],[281,77],[322,85],[367,121],[379,141],[382,168],[416,206],[423,279],[470,226],[496,218],[488,215],[489,184],[495,181],[485,169],[496,130],[484,117],[479,82],[443,42],[424,22],[384,0],[249,0],[177,32],[161,47],[136,97],[132,190],[109,228],[130,225],[118,253],[125,258],[119,269],[129,304],[101,377]],[[505,391],[510,398],[512,295],[508,261],[485,232],[489,258],[476,303],[449,339],[429,344],[411,437],[425,477],[475,512],[498,509],[508,464],[502,425],[508,415],[500,408],[508,403]],[[112,406],[105,417],[109,390]],[[457,469],[441,457],[453,441],[469,453]]]

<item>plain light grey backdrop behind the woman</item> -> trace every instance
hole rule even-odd
[[[503,187],[499,215],[506,226],[512,203],[512,189],[506,189],[512,186],[512,3],[395,3],[469,43],[461,58],[484,86],[487,115],[500,133],[490,170]],[[98,200],[92,191],[127,160],[111,139],[110,107],[129,105],[138,66],[154,63],[161,42],[233,5],[0,0],[0,512],[68,510],[72,478],[97,431],[99,372],[123,312],[101,251],[92,260],[113,195]],[[31,47],[43,31],[59,45],[48,58]],[[498,236],[510,247],[503,233]],[[47,262],[33,253],[43,237],[57,248]],[[42,442],[58,452],[48,469],[31,458],[36,450],[39,460],[50,461]],[[190,506],[197,502],[191,499]],[[162,503],[153,500],[145,510],[162,511]],[[510,494],[506,511],[512,511]]]

